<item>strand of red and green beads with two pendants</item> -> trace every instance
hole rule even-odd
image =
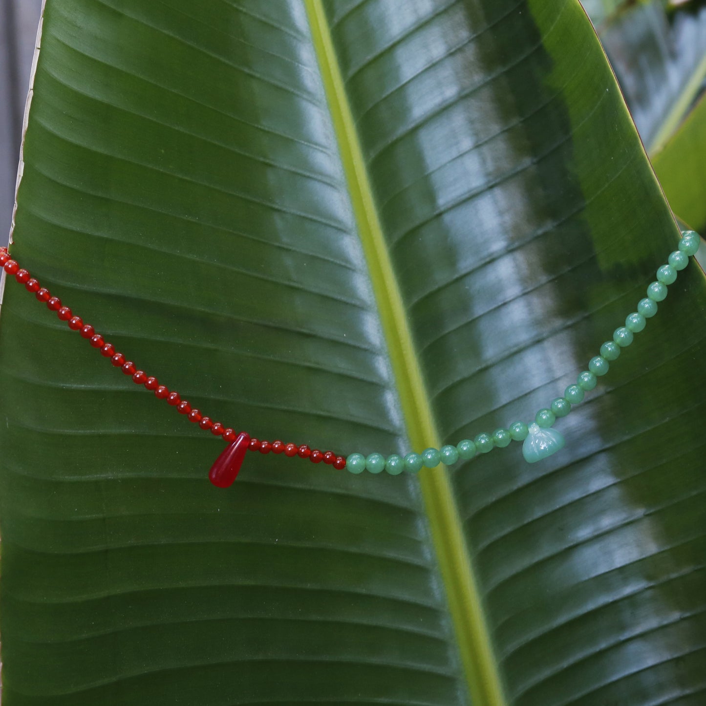
[[[676,280],[678,270],[683,270],[688,264],[689,256],[693,256],[699,249],[700,238],[693,230],[684,231],[679,241],[678,250],[669,255],[668,263],[657,270],[657,281],[647,287],[647,297],[638,302],[638,311],[628,314],[625,325],[613,333],[613,340],[606,341],[600,349],[600,354],[588,362],[588,370],[579,374],[575,385],[569,385],[564,390],[563,397],[556,397],[551,405],[540,409],[534,416],[534,421],[529,425],[524,421],[515,421],[508,429],[496,429],[492,434],[479,433],[472,441],[464,439],[457,445],[445,445],[441,449],[427,448],[421,454],[410,452],[405,457],[392,454],[385,458],[381,453],[371,453],[364,456],[361,453],[352,453],[347,458],[333,453],[311,449],[306,444],[297,445],[282,441],[260,441],[246,431],[236,433],[220,421],[213,421],[205,417],[199,409],[193,409],[188,400],[182,400],[179,393],[169,390],[165,385],[160,385],[157,378],[148,376],[143,370],[138,370],[133,361],[116,349],[112,343],[104,340],[100,333],[96,333],[92,325],[84,323],[80,316],[74,316],[68,306],[61,304],[59,297],[54,297],[40,283],[31,277],[27,270],[20,268],[16,260],[8,254],[7,248],[0,248],[0,265],[7,275],[14,275],[17,282],[25,285],[28,292],[33,292],[38,301],[47,304],[50,311],[56,311],[61,321],[68,323],[68,328],[78,331],[81,337],[87,339],[90,345],[98,350],[102,356],[121,371],[131,376],[133,383],[144,385],[147,390],[152,390],[158,400],[167,400],[167,404],[175,407],[179,414],[186,415],[201,429],[210,431],[214,436],[222,436],[228,442],[210,469],[210,481],[220,488],[227,488],[236,479],[243,463],[247,450],[260,453],[284,453],[285,456],[308,458],[313,463],[324,462],[333,465],[336,469],[347,468],[352,473],[361,473],[367,470],[371,473],[381,473],[383,470],[390,475],[398,475],[402,471],[417,473],[422,467],[434,468],[440,463],[453,465],[458,460],[469,460],[477,453],[488,453],[493,448],[505,448],[510,441],[522,441],[522,455],[528,463],[542,460],[564,446],[561,432],[551,429],[558,417],[566,417],[571,411],[571,405],[578,405],[583,400],[586,392],[597,385],[597,378],[605,375],[609,364],[618,358],[621,348],[633,342],[635,333],[640,333],[645,328],[648,318],[657,313],[657,302],[666,297],[667,285]]]

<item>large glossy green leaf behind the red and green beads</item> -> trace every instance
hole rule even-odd
[[[13,253],[260,438],[530,419],[676,244],[576,0],[54,0],[41,47]],[[8,282],[6,705],[700,702],[705,306],[691,264],[543,464],[222,491]]]

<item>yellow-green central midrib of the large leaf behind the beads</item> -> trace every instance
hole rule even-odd
[[[395,371],[409,441],[419,450],[428,446],[439,448],[436,423],[385,246],[323,5],[321,0],[305,2],[358,232]],[[426,469],[419,474],[419,481],[472,701],[474,706],[503,706],[505,699],[498,664],[448,473],[441,468]]]

